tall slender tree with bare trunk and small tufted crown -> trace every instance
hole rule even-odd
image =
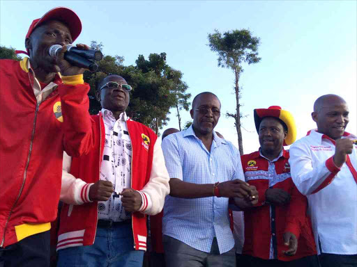
[[[227,67],[234,72],[236,94],[236,113],[227,113],[228,117],[234,118],[234,125],[238,133],[239,152],[243,155],[243,138],[241,132],[241,88],[239,78],[243,72],[242,63],[255,64],[261,58],[258,57],[260,38],[252,36],[247,29],[227,31],[220,33],[215,30],[208,34],[208,46],[211,51],[218,54],[218,67]]]

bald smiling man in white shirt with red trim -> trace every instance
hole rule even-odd
[[[317,129],[290,148],[291,177],[307,195],[321,266],[357,266],[356,136],[344,131],[347,103],[323,95],[312,120]]]

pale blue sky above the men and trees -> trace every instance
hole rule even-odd
[[[167,64],[183,72],[191,101],[199,92],[215,93],[222,113],[235,109],[234,74],[217,66],[208,33],[250,29],[261,38],[260,63],[243,65],[243,143],[245,153],[259,147],[254,108],[282,106],[298,125],[298,138],[313,129],[314,100],[334,93],[350,108],[347,131],[356,126],[356,1],[0,1],[0,44],[24,49],[33,19],[67,6],[82,19],[76,42],[104,44],[103,52],[135,64],[139,54],[167,53]],[[190,120],[188,112],[183,122]],[[172,110],[169,125],[178,127]],[[162,130],[162,131],[163,131]],[[216,127],[238,146],[234,122],[222,115]],[[161,132],[162,132],[161,131]]]

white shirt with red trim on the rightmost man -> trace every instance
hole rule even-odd
[[[334,154],[332,140],[310,131],[290,147],[291,178],[307,195],[319,254],[357,254],[357,184],[346,163],[334,165]],[[357,170],[356,145],[349,158]]]

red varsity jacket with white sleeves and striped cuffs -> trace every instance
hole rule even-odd
[[[63,201],[74,204],[63,204],[61,209],[57,250],[78,245],[93,245],[96,237],[98,202],[89,202],[88,191],[89,186],[100,179],[105,126],[101,113],[93,115],[92,119],[96,123],[94,148],[89,154],[72,158],[70,175],[77,178],[72,184],[77,182],[78,186],[73,186],[73,189],[61,194]],[[132,213],[135,250],[146,250],[146,215],[154,215],[162,210],[165,196],[169,194],[169,175],[155,133],[144,124],[130,119],[127,120],[127,125],[132,143],[131,187],[144,193],[144,202],[152,202],[143,211]],[[70,188],[66,183],[63,187]],[[80,203],[74,201],[78,198],[75,195],[81,196]],[[147,198],[147,195],[150,198]]]

